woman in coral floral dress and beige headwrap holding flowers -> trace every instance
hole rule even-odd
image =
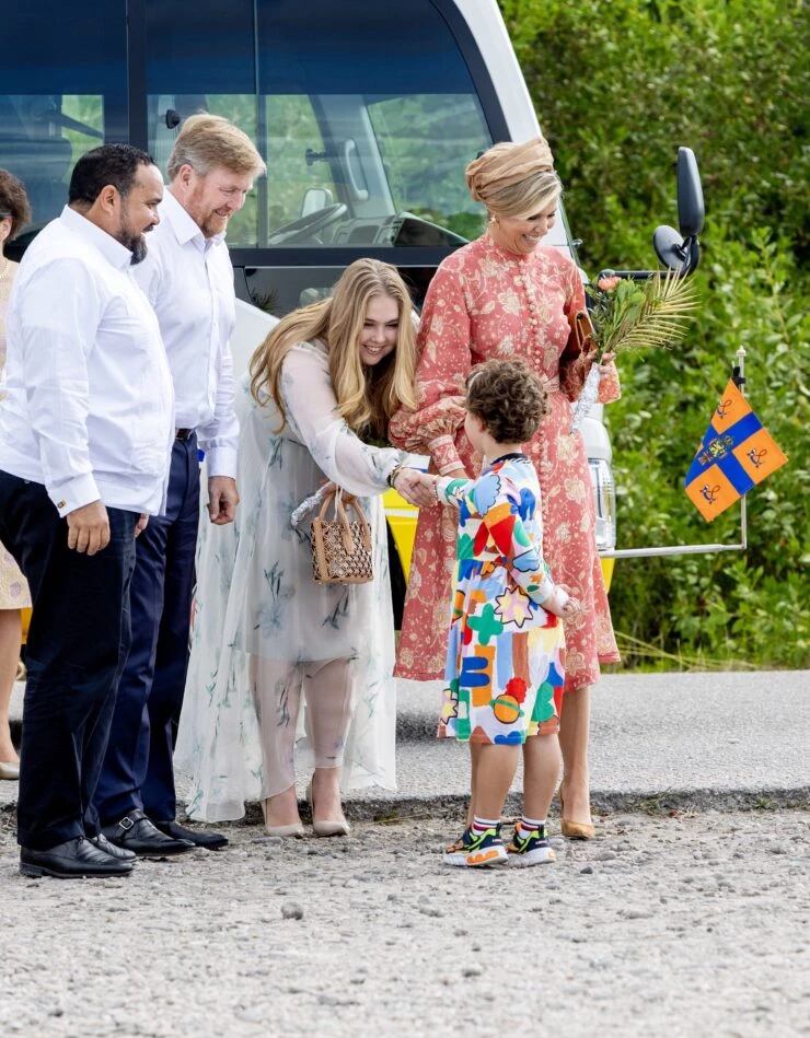
[[[576,265],[541,244],[553,225],[562,191],[546,142],[496,144],[466,170],[472,197],[489,212],[482,237],[448,257],[433,277],[419,331],[418,406],[401,409],[390,425],[393,443],[427,451],[436,471],[477,475],[463,430],[464,380],[490,358],[522,359],[543,380],[549,413],[524,451],[543,498],[545,557],[555,582],[567,585],[582,611],[566,626],[567,666],[560,710],[564,832],[588,838],[590,689],[600,662],[618,662],[595,544],[595,511],[588,456],[570,434],[571,401],[590,362],[574,350],[569,317],[585,308]],[[618,397],[612,361],[604,365],[600,400]],[[456,516],[423,509],[414,548],[397,674],[441,677],[448,635]]]

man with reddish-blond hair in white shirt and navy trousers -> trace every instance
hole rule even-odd
[[[227,119],[207,114],[186,119],[169,159],[161,225],[137,272],[172,370],[177,434],[166,513],[138,539],[132,645],[96,791],[105,836],[136,853],[228,842],[220,833],[176,823],[172,755],[188,664],[198,445],[206,455],[210,522],[232,522],[239,502],[229,346],[235,296],[224,236],[264,172],[251,140]]]

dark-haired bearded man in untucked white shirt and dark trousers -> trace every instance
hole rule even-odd
[[[160,221],[146,152],[83,155],[28,247],[8,316],[0,538],[31,585],[18,840],[24,875],[124,875],[93,794],[129,648],[135,538],[163,509],[174,436],[158,320],[132,278]]]

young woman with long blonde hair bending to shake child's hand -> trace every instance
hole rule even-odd
[[[296,311],[251,361],[240,411],[241,505],[205,530],[175,763],[188,814],[239,818],[262,801],[268,832],[302,836],[296,763],[314,768],[315,832],[346,833],[340,791],[394,788],[394,627],[380,494],[416,500],[391,416],[414,407],[410,299],[393,267],[361,259],[334,294]],[[293,510],[324,480],[356,494],[373,534],[369,584],[312,580],[309,522]],[[305,719],[302,705],[305,704]]]

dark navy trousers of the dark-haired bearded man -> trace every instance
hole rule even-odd
[[[109,544],[68,548],[42,483],[0,473],[0,540],[31,587],[18,841],[46,851],[99,831],[93,794],[129,649],[135,512],[107,509]]]

